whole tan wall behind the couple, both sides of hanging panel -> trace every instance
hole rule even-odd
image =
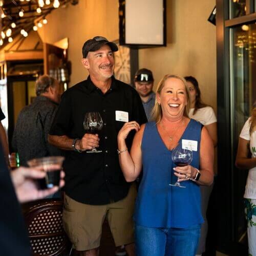
[[[139,50],[139,67],[153,71],[156,83],[167,73],[193,75],[203,100],[216,108],[216,28],[207,22],[215,0],[167,0],[167,47]],[[83,42],[95,35],[117,39],[118,0],[80,0],[47,16],[39,30],[44,42],[69,38],[71,85],[87,77],[80,63]]]

